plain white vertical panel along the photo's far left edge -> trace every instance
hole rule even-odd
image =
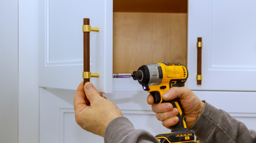
[[[18,1],[0,1],[0,142],[18,143]]]

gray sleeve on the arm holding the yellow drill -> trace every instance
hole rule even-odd
[[[205,103],[202,114],[190,128],[200,143],[256,143],[256,132],[223,110]]]

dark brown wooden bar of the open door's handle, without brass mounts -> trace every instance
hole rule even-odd
[[[90,19],[84,18],[84,25],[90,25]],[[90,71],[90,32],[84,33],[84,71]],[[84,84],[90,82],[90,78],[84,78]]]

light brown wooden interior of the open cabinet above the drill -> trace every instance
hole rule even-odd
[[[113,1],[113,72],[187,61],[187,0]]]

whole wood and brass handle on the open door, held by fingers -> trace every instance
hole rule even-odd
[[[91,77],[99,77],[98,73],[90,72],[90,32],[98,32],[99,28],[91,27],[90,19],[84,18],[83,33],[84,33],[84,84],[90,81]]]

